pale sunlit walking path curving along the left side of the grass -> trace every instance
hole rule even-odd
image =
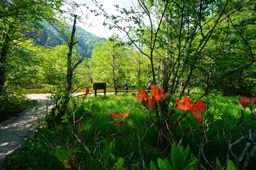
[[[78,92],[74,95],[81,94],[84,94],[84,92]],[[110,94],[110,92],[106,94]],[[30,137],[33,134],[39,120],[41,122],[46,114],[46,103],[49,106],[49,110],[52,108],[53,103],[49,101],[49,96],[50,94],[28,94],[28,98],[37,100],[35,107],[27,109],[15,117],[0,123],[0,169],[5,157],[22,147],[26,140],[28,140],[26,137]]]

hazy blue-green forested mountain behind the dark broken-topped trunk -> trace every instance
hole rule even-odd
[[[69,25],[68,32],[71,32],[73,25]],[[49,47],[55,47],[56,45],[67,45],[61,34],[55,30],[52,26],[45,25],[44,30],[42,30],[42,34],[44,37],[40,37],[38,40],[40,43],[36,43],[36,45],[46,45]],[[76,41],[78,41],[78,46],[80,50],[78,55],[85,55],[87,58],[90,58],[92,55],[93,48],[97,45],[98,42],[104,40],[101,37],[98,37],[90,32],[87,32],[83,28],[76,26]]]

